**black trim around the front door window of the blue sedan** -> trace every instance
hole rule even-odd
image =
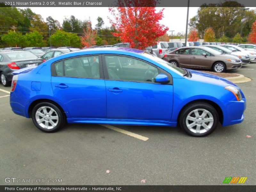
[[[139,58],[136,58],[136,57],[132,57],[132,56],[129,56],[129,55],[120,55],[120,54],[102,54],[102,66],[103,66],[103,73],[104,73],[104,77],[105,77],[105,80],[109,80],[109,81],[125,81],[125,82],[135,82],[135,83],[153,83],[153,84],[159,84],[159,83],[155,83],[155,82],[147,82],[147,81],[129,81],[129,80],[116,80],[116,79],[109,79],[109,76],[108,76],[108,68],[107,68],[107,63],[106,63],[106,59],[105,59],[105,56],[107,55],[110,55],[110,56],[123,56],[123,57],[130,57],[130,58],[133,58],[133,59],[137,59],[137,60],[141,60],[153,67],[156,67],[157,70],[158,70],[158,73],[164,73],[165,75],[167,75],[168,77],[170,77],[170,82],[166,85],[172,85],[173,84],[173,81],[172,81],[172,75],[170,73],[168,73],[167,71],[165,71],[164,69],[162,68],[159,68],[158,66],[148,62],[148,61],[145,61],[145,60],[142,60],[142,59],[139,59]]]

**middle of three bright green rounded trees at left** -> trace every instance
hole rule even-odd
[[[28,47],[43,47],[45,45],[43,36],[38,31],[26,33],[25,39]]]

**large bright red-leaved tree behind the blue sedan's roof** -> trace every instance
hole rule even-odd
[[[161,25],[163,9],[156,12],[155,7],[110,7],[114,16],[110,23],[116,28],[114,36],[122,42],[130,43],[132,48],[144,49],[157,43],[168,27]]]

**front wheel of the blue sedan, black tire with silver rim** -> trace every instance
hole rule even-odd
[[[201,113],[203,112],[203,110],[205,110],[205,113],[206,111],[208,111],[209,113],[207,113],[204,117],[201,116],[196,118],[196,113],[193,112],[196,109],[199,109],[198,115],[203,115],[203,113]],[[187,117],[195,118],[195,121],[187,120]],[[208,119],[212,118],[213,123],[204,122],[207,118]],[[188,125],[191,125],[190,129],[187,126],[187,122],[188,122]],[[213,108],[210,104],[204,103],[204,102],[191,103],[190,105],[186,106],[182,110],[179,118],[179,124],[181,129],[185,131],[188,135],[191,135],[194,137],[204,137],[206,135],[211,134],[216,129],[218,122],[219,122],[219,115],[216,109]],[[209,128],[208,125],[210,126],[210,128],[207,130],[206,128],[204,128],[205,125],[207,125],[206,126],[207,129]],[[198,127],[200,126],[199,133],[197,132],[197,129],[196,129],[197,126]]]

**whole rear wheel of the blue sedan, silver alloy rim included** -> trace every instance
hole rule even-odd
[[[56,132],[61,129],[65,123],[64,113],[53,103],[38,103],[31,113],[34,124],[43,132]]]

